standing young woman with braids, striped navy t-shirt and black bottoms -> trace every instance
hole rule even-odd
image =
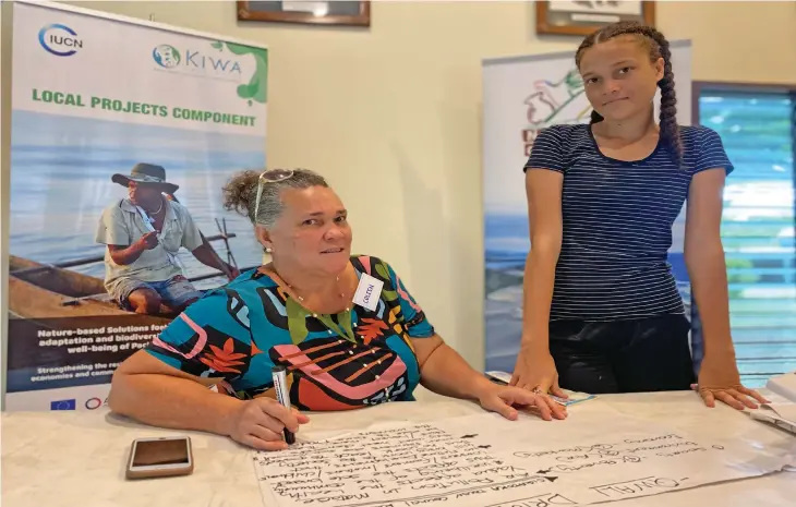
[[[740,384],[720,238],[733,170],[711,129],[679,126],[672,57],[649,26],[588,36],[576,64],[594,111],[536,137],[526,164],[531,253],[512,385],[564,396],[689,389],[743,410],[764,401]],[[653,99],[661,88],[660,125]],[[689,322],[666,262],[688,198],[685,257],[704,359],[695,378]]]

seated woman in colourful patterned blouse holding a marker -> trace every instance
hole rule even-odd
[[[418,384],[510,420],[518,406],[566,417],[544,395],[489,382],[434,333],[386,262],[352,256],[346,208],[322,177],[244,171],[224,192],[273,262],[205,294],[124,361],[108,400],[114,412],[269,450],[287,447],[285,427],[309,421],[299,410],[410,401]],[[287,367],[299,410],[276,401],[275,365]]]

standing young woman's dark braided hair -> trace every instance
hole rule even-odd
[[[666,143],[675,161],[679,165],[683,162],[683,140],[677,125],[677,97],[675,96],[674,73],[672,72],[672,51],[668,47],[668,40],[662,33],[635,21],[622,21],[607,25],[583,39],[575,53],[575,64],[580,68],[583,53],[590,47],[620,35],[636,36],[649,49],[651,61],[663,58],[663,79],[658,82],[658,86],[661,88],[661,137]],[[603,121],[603,117],[592,110],[591,123],[601,121]]]

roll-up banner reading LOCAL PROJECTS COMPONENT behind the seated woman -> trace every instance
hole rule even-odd
[[[260,264],[221,188],[265,166],[267,76],[264,47],[14,2],[7,410],[101,407],[181,298]],[[109,245],[146,232],[136,183],[167,224],[131,268]],[[124,301],[161,279],[171,306]]]

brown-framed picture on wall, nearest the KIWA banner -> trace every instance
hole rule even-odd
[[[370,1],[238,1],[238,21],[371,26]]]

